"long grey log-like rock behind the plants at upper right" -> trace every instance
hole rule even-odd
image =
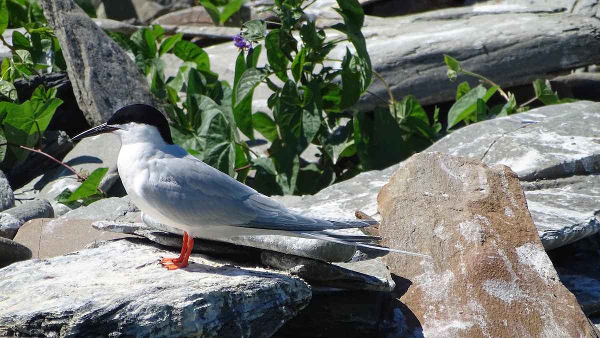
[[[595,41],[598,19],[545,11],[475,5],[381,19],[370,22],[362,33],[373,70],[382,75],[396,98],[412,94],[421,104],[434,104],[456,97],[457,85],[446,76],[444,54],[503,88],[600,61],[600,44]],[[455,38],[449,41],[448,36]],[[390,48],[395,52],[388,53]],[[457,83],[463,81],[478,85],[475,77],[459,74]],[[377,97],[388,95],[380,81],[369,91],[375,95],[362,97],[364,110],[381,104]]]

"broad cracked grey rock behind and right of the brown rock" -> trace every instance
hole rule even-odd
[[[532,109],[461,128],[427,151],[505,164],[515,171],[547,250],[600,229],[600,103]]]

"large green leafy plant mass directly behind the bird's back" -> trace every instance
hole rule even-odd
[[[159,26],[131,38],[113,34],[165,100],[175,142],[268,195],[315,193],[363,170],[382,169],[430,145],[440,129],[437,115],[430,123],[414,97],[398,102],[391,96],[388,109],[353,112],[373,81],[362,8],[355,0],[338,1],[344,22],[334,28],[346,35],[340,40],[328,39],[311,20],[302,22],[301,5],[275,1],[281,25],[271,31],[262,20],[244,23],[235,37],[240,52],[231,86],[211,71],[206,52],[178,35],[164,39]],[[298,27],[299,39],[292,34]],[[346,40],[353,50],[346,47],[341,60],[332,59],[329,53]],[[268,64],[259,66],[263,46]],[[165,79],[160,56],[171,47],[184,63]],[[253,112],[253,93],[261,84],[273,92],[272,115]],[[271,142],[268,156],[254,154],[240,133],[248,142],[255,134]],[[316,161],[305,160],[314,151],[308,149],[317,149]],[[247,180],[251,169],[254,177]]]

